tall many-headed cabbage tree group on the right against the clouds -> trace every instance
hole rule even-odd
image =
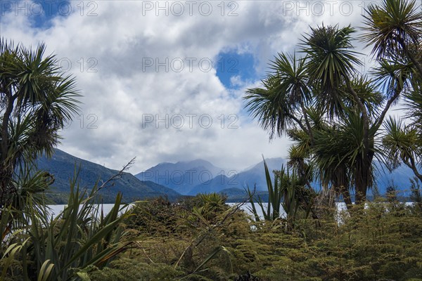
[[[354,28],[322,25],[303,36],[303,58],[279,54],[262,87],[245,95],[245,107],[270,138],[286,133],[295,141],[290,164],[303,173],[312,162],[317,178],[347,203],[350,190],[360,203],[373,185],[376,136],[390,107],[399,96],[422,100],[422,14],[414,1],[385,0],[367,13],[362,41],[378,63],[369,77],[357,74]]]

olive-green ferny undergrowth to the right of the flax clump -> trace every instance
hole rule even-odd
[[[200,197],[137,204],[125,221],[136,247],[91,280],[422,280],[422,214],[406,204],[326,209],[292,230],[224,204],[205,218]]]

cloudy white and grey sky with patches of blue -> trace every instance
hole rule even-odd
[[[378,1],[372,1],[378,3]],[[287,157],[245,110],[269,60],[309,26],[362,26],[370,1],[0,1],[0,36],[44,42],[77,79],[80,114],[58,148],[129,172],[207,159],[239,171]],[[362,52],[362,72],[371,57]]]

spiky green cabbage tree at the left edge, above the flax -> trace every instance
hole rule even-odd
[[[15,198],[27,185],[20,184],[18,165],[51,154],[58,131],[78,110],[75,79],[64,76],[45,51],[44,44],[32,49],[0,40],[0,211],[19,202]]]

